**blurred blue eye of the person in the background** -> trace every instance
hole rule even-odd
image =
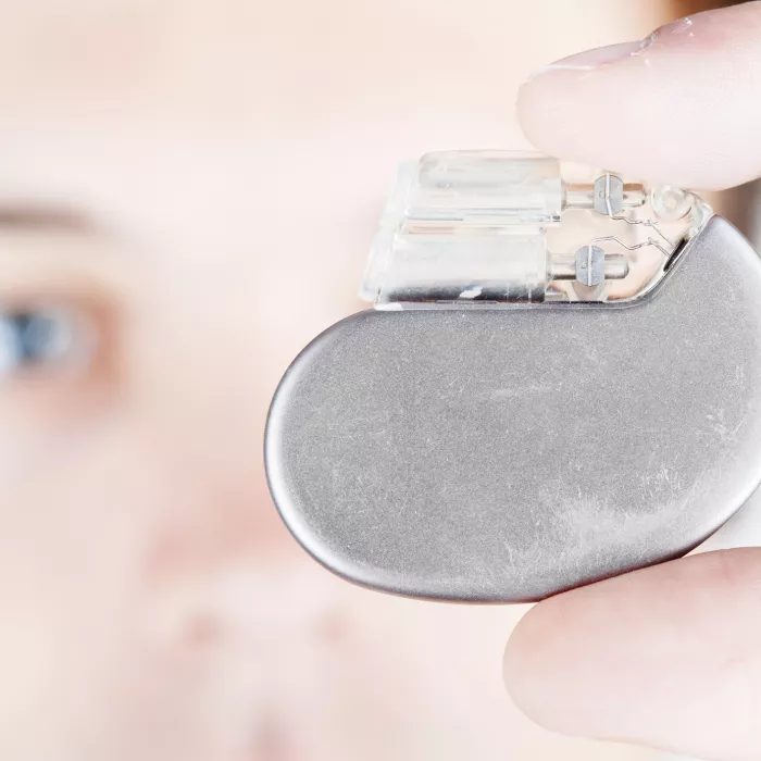
[[[0,308],[0,382],[82,371],[92,359],[96,338],[91,321],[73,308]]]

